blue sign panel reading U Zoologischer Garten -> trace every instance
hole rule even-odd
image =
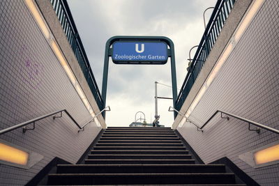
[[[112,44],[112,61],[116,64],[165,64],[167,58],[167,43],[163,41]]]

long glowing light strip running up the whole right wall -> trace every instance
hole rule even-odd
[[[211,85],[213,82],[213,79],[215,79],[217,73],[219,72],[220,68],[223,66],[229,55],[232,53],[232,50],[234,49],[237,42],[239,42],[239,39],[243,35],[244,31],[247,29],[248,25],[252,21],[252,18],[255,17],[257,11],[259,8],[262,7],[262,4],[265,0],[255,0],[254,3],[252,3],[252,6],[250,6],[248,12],[246,15],[243,16],[243,19],[239,26],[237,27],[236,31],[234,32],[234,35],[232,36],[231,40],[229,41],[227,47],[225,48],[223,54],[219,57],[217,63],[214,65],[213,70],[211,70],[209,76],[206,79],[206,82],[204,82],[202,88],[199,90],[199,93],[197,93],[195,99],[193,100],[192,104],[190,105],[189,109],[186,111],[185,116],[188,118],[192,111],[195,109],[199,101],[201,100],[202,96],[206,92],[207,88]],[[185,123],[183,119],[179,123]],[[183,125],[183,124],[182,124]]]

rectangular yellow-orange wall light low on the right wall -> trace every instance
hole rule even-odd
[[[255,163],[266,164],[269,162],[275,162],[279,160],[279,144],[264,148],[254,153]]]

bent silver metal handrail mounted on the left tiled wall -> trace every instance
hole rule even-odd
[[[59,110],[59,111],[54,111],[54,112],[51,112],[51,113],[49,113],[49,114],[45,114],[45,115],[43,115],[43,116],[40,116],[40,117],[38,117],[38,118],[33,118],[33,119],[29,120],[29,121],[25,121],[25,122],[23,122],[23,123],[20,123],[20,124],[17,124],[17,125],[13,125],[12,127],[8,127],[8,128],[6,128],[6,129],[0,130],[0,134],[5,134],[5,133],[7,133],[7,132],[10,132],[10,131],[15,130],[15,129],[20,128],[20,127],[22,127],[22,132],[23,132],[23,133],[27,132],[27,130],[34,130],[34,129],[35,129],[35,122],[36,122],[36,121],[40,121],[40,120],[42,120],[43,118],[47,118],[47,117],[49,117],[49,116],[53,116],[53,119],[55,119],[55,118],[61,118],[63,112],[65,112],[65,113],[70,117],[70,119],[75,123],[75,125],[77,125],[77,127],[80,129],[80,130],[78,130],[78,132],[80,132],[80,131],[84,131],[84,127],[85,127],[86,125],[88,125],[89,123],[91,123],[92,121],[94,121],[94,119],[95,119],[98,115],[102,114],[103,111],[110,111],[110,106],[105,107],[105,109],[101,110],[98,114],[96,114],[96,116],[94,116],[93,118],[91,118],[90,121],[86,122],[86,124],[83,125],[83,126],[81,127],[81,126],[77,123],[77,121],[75,121],[75,119],[73,118],[73,116],[71,116],[70,113],[69,113],[66,109],[61,109],[61,110]],[[60,116],[55,116],[55,114],[58,114],[58,113],[60,113]],[[27,125],[29,125],[29,124],[31,124],[31,123],[33,124],[33,128],[27,128]]]

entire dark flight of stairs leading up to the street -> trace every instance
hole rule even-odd
[[[168,127],[108,127],[84,164],[59,164],[48,185],[237,185],[223,164],[195,164]]]

